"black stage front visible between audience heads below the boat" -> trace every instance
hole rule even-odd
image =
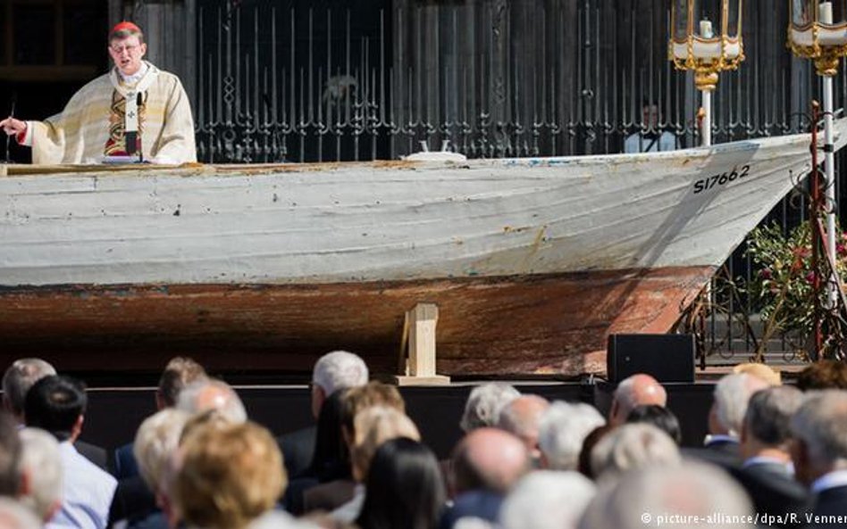
[[[516,382],[521,393],[537,393],[549,400],[583,401],[594,404],[606,415],[614,385],[600,381]],[[449,455],[462,432],[459,418],[468,393],[475,383],[444,386],[401,387],[409,417],[420,428],[423,440],[440,458]],[[665,384],[668,407],[679,417],[683,445],[699,445],[706,434],[707,417],[714,383]],[[236,385],[256,422],[274,434],[283,434],[311,424],[309,389],[299,385]],[[88,414],[82,439],[106,448],[130,442],[141,421],[155,411],[154,388],[96,388],[88,390]]]

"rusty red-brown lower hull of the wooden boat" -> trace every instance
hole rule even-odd
[[[662,333],[710,267],[333,285],[62,285],[0,291],[0,362],[155,371],[186,354],[218,371],[306,372],[323,352],[396,371],[404,312],[437,303],[439,372],[605,371],[609,333]]]

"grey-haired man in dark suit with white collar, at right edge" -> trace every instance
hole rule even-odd
[[[847,392],[812,393],[791,421],[797,479],[809,485],[810,528],[847,524]]]

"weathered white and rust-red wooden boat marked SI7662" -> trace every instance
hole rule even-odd
[[[10,165],[0,354],[294,372],[348,349],[393,371],[405,312],[432,302],[441,373],[602,372],[609,333],[666,332],[809,167],[805,134],[562,158]]]

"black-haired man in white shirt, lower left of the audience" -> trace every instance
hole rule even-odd
[[[87,405],[85,386],[69,376],[45,376],[27,393],[27,426],[53,434],[62,455],[63,501],[52,521],[55,526],[104,529],[109,518],[117,481],[73,447]]]

